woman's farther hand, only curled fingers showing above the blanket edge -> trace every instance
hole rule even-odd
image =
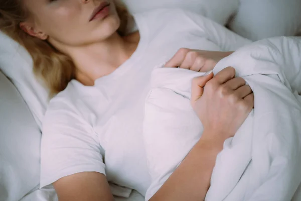
[[[171,60],[166,63],[166,67],[180,67],[197,72],[208,72],[212,70],[217,62],[229,56],[233,52],[218,52],[205,50],[192,50],[181,48]]]

